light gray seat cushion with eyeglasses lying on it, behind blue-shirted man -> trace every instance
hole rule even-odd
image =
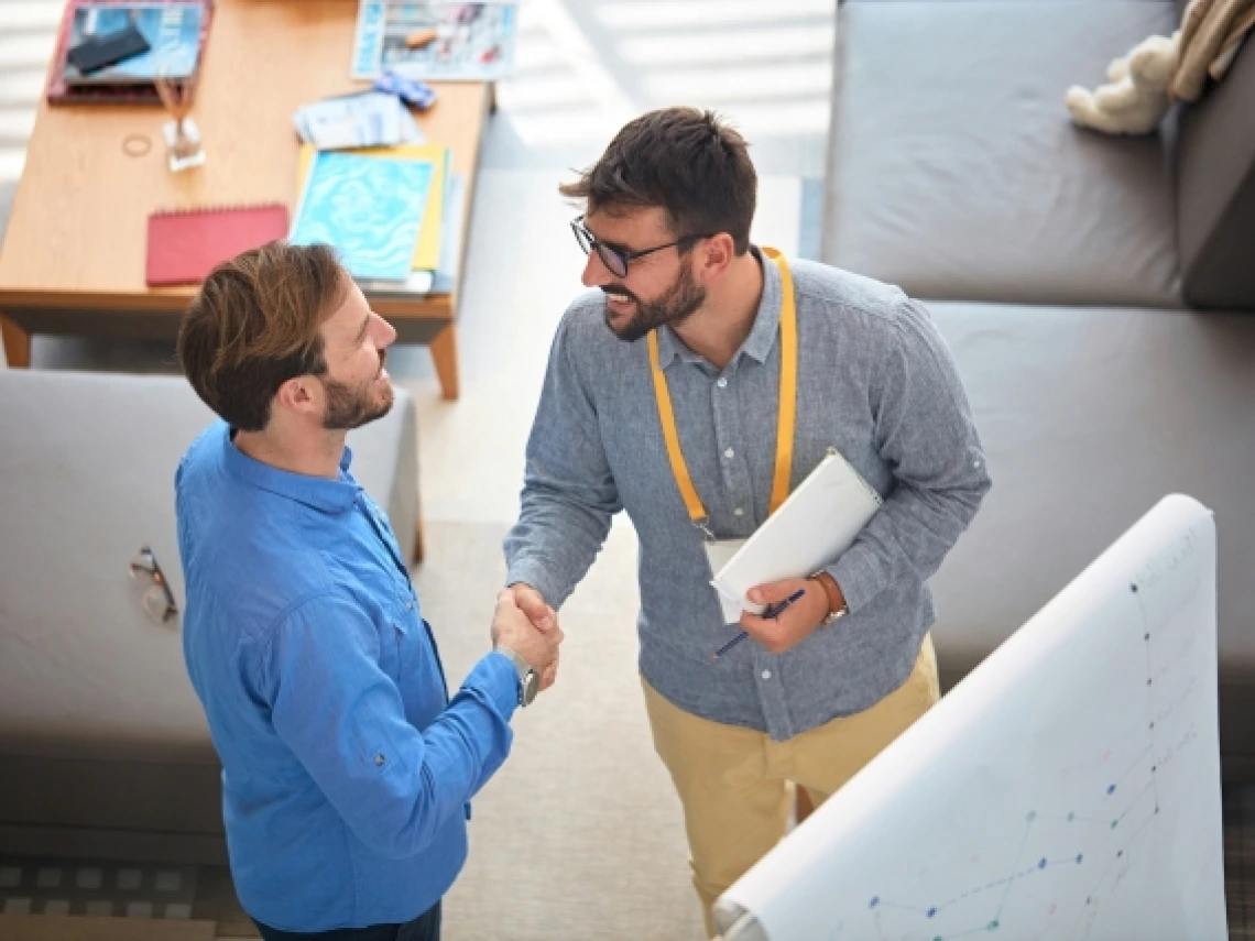
[[[0,752],[213,763],[178,621],[128,575],[153,548],[182,605],[174,470],[210,410],[181,378],[0,370]],[[413,401],[349,435],[407,552]]]

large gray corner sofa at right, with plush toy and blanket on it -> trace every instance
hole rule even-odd
[[[1170,492],[1220,531],[1221,752],[1255,775],[1255,41],[1161,133],[1073,83],[1171,0],[846,0],[823,260],[930,302],[994,488],[935,578],[953,684]]]

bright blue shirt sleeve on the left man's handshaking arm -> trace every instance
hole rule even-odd
[[[518,680],[508,660],[484,656],[419,731],[379,666],[370,619],[334,593],[284,617],[262,670],[279,738],[380,856],[420,852],[510,754]]]

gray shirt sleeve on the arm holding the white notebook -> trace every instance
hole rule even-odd
[[[931,577],[990,488],[963,383],[924,305],[904,301],[886,326],[870,404],[896,483],[827,570],[852,612],[899,578]]]

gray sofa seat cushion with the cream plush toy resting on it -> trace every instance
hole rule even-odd
[[[1177,305],[1161,136],[1076,128],[1069,84],[1171,0],[840,8],[823,258],[926,297]]]

